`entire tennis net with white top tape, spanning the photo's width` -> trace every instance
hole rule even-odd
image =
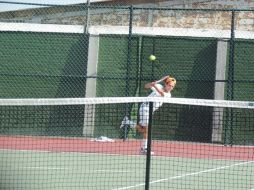
[[[0,113],[3,189],[254,188],[254,102],[0,99]]]

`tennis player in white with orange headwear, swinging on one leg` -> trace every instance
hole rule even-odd
[[[164,82],[161,85],[160,82]],[[165,76],[162,79],[145,84],[145,89],[151,89],[152,92],[148,97],[171,97],[171,91],[176,85],[176,79],[170,76]],[[153,112],[156,111],[162,103],[154,103]],[[139,123],[129,120],[127,116],[124,117],[120,128],[124,126],[130,126],[131,128],[136,128],[136,130],[142,134],[143,140],[141,143],[141,154],[146,154],[147,152],[147,137],[148,137],[148,121],[149,121],[149,103],[143,102],[139,108]],[[151,154],[154,154],[151,152]]]

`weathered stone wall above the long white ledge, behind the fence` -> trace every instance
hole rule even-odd
[[[121,1],[114,1],[121,2]],[[129,1],[131,2],[131,1]],[[152,7],[171,7],[188,9],[213,10],[144,10],[135,9],[133,26],[167,27],[167,28],[195,28],[195,29],[231,29],[231,11],[218,9],[248,9],[236,11],[235,26],[237,30],[254,31],[254,2],[251,0],[169,0],[154,1],[155,4],[135,5],[138,7],[152,5]],[[126,2],[125,2],[126,3]],[[94,6],[94,5],[93,5]],[[215,11],[217,9],[217,11]],[[128,26],[129,10],[121,8],[91,9],[89,11],[90,26]],[[62,8],[42,8],[36,10],[15,11],[1,13],[1,22],[25,22],[42,24],[85,25],[87,12],[84,7],[75,6]]]

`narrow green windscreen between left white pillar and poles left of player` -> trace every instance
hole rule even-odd
[[[120,35],[100,36],[99,44],[96,96],[135,96],[139,88],[139,38],[132,37],[130,39],[128,36]],[[129,114],[131,109],[132,105],[126,104],[125,109],[121,109],[121,112],[119,112],[119,117],[114,118],[117,121],[116,123],[120,123],[122,117]],[[112,126],[110,123],[100,125],[99,118],[110,117],[111,114],[111,112],[103,113],[101,111],[97,113],[96,136],[119,136],[119,126]],[[110,134],[108,134],[108,131],[110,131]]]

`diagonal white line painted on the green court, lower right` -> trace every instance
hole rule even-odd
[[[254,163],[254,161],[241,162],[241,163],[236,163],[236,164],[232,164],[232,165],[228,165],[228,166],[221,166],[221,167],[212,168],[212,169],[208,169],[208,170],[203,170],[203,171],[199,171],[199,172],[187,173],[187,174],[183,174],[183,175],[178,175],[178,176],[173,176],[173,177],[169,177],[169,178],[159,179],[159,180],[151,181],[150,184],[159,183],[159,182],[163,182],[163,181],[168,181],[168,180],[172,180],[172,179],[184,178],[184,177],[187,177],[187,176],[199,175],[199,174],[202,174],[202,173],[208,173],[208,172],[212,172],[212,171],[216,171],[216,170],[222,170],[222,169],[225,169],[225,168],[245,165],[245,164],[249,164],[249,163]],[[120,188],[116,188],[116,189],[112,189],[112,190],[132,189],[132,188],[140,187],[140,186],[145,186],[145,183],[140,183],[140,184],[136,184],[136,185],[132,185],[132,186],[128,186],[128,187],[120,187]]]

